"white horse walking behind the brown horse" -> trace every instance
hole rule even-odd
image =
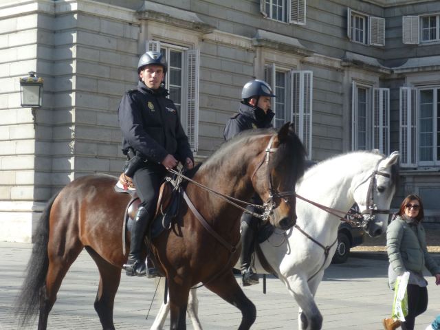
[[[358,203],[364,217],[364,229],[371,236],[379,236],[386,232],[388,225],[398,158],[397,152],[384,157],[375,152],[358,151],[313,166],[296,187],[297,226],[281,235],[282,239],[278,232],[260,244],[266,260],[300,307],[299,329],[322,328],[322,315],[314,296],[336,251],[340,224],[340,217],[305,199],[340,210],[341,214],[347,213],[353,203]],[[267,273],[258,258],[255,267],[259,274]],[[196,290],[192,289],[188,316],[194,329],[201,330],[197,307]],[[167,314],[168,306],[162,305],[151,329],[162,329]]]

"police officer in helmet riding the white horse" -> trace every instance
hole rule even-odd
[[[272,98],[275,95],[272,88],[263,80],[251,80],[246,83],[241,91],[239,113],[228,120],[223,136],[229,140],[241,131],[247,129],[264,129],[272,127],[274,112],[270,109]],[[251,200],[255,204],[263,204],[259,195],[254,195]],[[247,208],[251,212],[261,212],[253,206]],[[259,276],[252,269],[252,252],[254,252],[256,230],[259,219],[249,213],[241,217],[241,275],[243,286],[259,283]]]

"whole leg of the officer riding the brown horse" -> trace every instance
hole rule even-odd
[[[157,271],[152,265],[148,265],[147,274],[145,260],[142,259],[142,248],[146,249],[146,245],[144,245],[145,234],[154,216],[159,187],[164,174],[163,166],[147,163],[146,166],[136,170],[133,177],[141,203],[131,228],[130,253],[125,267],[126,274],[129,276],[148,275],[148,277],[154,277],[157,275]]]

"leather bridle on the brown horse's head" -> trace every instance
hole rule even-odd
[[[263,203],[263,206],[259,206],[259,208],[262,208],[264,210],[263,214],[261,214],[261,217],[260,217],[263,221],[267,221],[269,219],[269,217],[272,214],[274,214],[274,209],[276,208],[276,203],[274,201],[275,199],[281,199],[283,197],[295,195],[295,190],[278,192],[276,189],[274,189],[274,184],[272,182],[272,175],[270,174],[270,170],[269,170],[269,161],[270,161],[270,154],[274,153],[278,150],[278,148],[272,147],[272,144],[274,143],[275,137],[276,137],[276,134],[272,135],[272,137],[270,138],[270,141],[265,148],[265,155],[263,155],[263,159],[261,160],[261,163],[259,164],[259,166],[256,167],[256,169],[254,170],[254,173],[252,173],[252,176],[251,176],[251,179],[252,179],[252,177],[254,177],[254,175],[259,170],[261,165],[263,165],[264,163],[266,164],[266,166],[267,166],[267,182],[269,184],[269,188],[267,188],[267,190],[269,190],[269,198],[267,199],[267,201],[265,201],[265,203]],[[287,199],[284,199],[284,201],[285,201],[285,203],[288,203]]]

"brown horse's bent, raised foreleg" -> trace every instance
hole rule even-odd
[[[250,329],[255,322],[256,308],[252,301],[245,296],[239,284],[236,283],[232,271],[207,283],[206,287],[240,309],[242,318],[239,330]]]

